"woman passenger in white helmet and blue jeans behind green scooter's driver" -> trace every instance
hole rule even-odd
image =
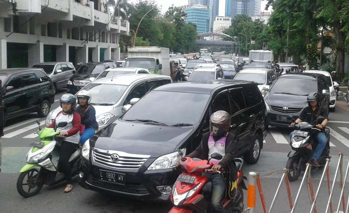
[[[78,95],[79,106],[76,107],[76,112],[80,114],[81,125],[84,125],[85,130],[80,130],[80,143],[83,145],[87,139],[91,138],[98,130],[96,121],[96,110],[90,105],[91,93],[86,90],[81,90]],[[83,129],[83,128],[82,128]]]

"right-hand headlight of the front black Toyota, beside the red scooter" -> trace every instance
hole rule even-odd
[[[185,149],[181,149],[179,152],[163,155],[155,160],[148,170],[164,170],[178,166],[181,157],[185,156]]]

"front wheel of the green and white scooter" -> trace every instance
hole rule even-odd
[[[42,189],[43,181],[37,169],[31,169],[19,174],[17,179],[17,192],[24,198],[37,195]]]

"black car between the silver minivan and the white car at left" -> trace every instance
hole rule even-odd
[[[84,86],[96,80],[97,76],[104,70],[114,67],[117,66],[113,62],[93,62],[80,66],[69,79],[67,92],[71,94],[77,93]]]

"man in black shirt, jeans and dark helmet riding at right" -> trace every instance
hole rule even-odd
[[[297,120],[294,123],[291,123],[291,127],[303,121],[315,125],[318,117],[322,116],[325,118],[321,124],[316,124],[316,127],[318,129],[321,129],[322,131],[319,132],[315,137],[315,139],[318,141],[318,146],[316,147],[312,156],[312,164],[314,166],[320,166],[318,160],[327,145],[327,137],[324,133],[324,129],[328,123],[328,113],[324,108],[320,108],[320,106],[318,105],[318,93],[310,93],[308,95],[307,102],[309,106],[302,110],[301,115],[297,118]],[[292,135],[293,132],[291,132],[290,134],[291,139]]]

